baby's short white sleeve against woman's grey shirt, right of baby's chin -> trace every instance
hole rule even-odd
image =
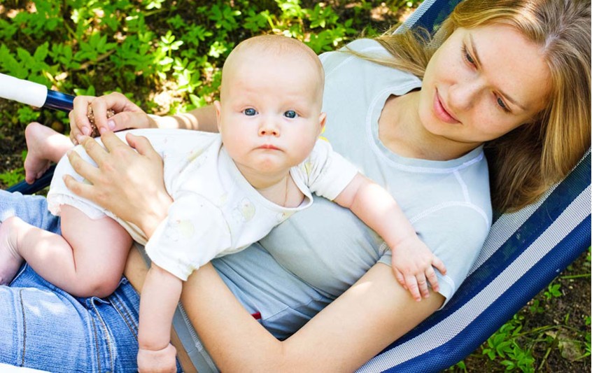
[[[358,173],[358,169],[325,140],[316,141],[311,155],[298,169],[311,192],[330,200],[335,199]]]

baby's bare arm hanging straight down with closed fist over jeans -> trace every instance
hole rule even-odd
[[[140,297],[139,372],[176,372],[176,351],[169,342],[182,285],[154,263],[150,267]]]

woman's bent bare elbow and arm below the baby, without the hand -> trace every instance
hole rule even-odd
[[[344,372],[414,328],[444,297],[432,293],[415,302],[390,267],[378,263],[283,342],[248,314],[211,265],[190,276],[181,302],[223,372]]]

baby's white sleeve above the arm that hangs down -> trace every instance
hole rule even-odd
[[[183,192],[146,243],[146,253],[155,264],[186,281],[231,243],[222,211],[197,193]]]

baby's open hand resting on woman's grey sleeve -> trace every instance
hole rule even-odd
[[[430,296],[428,281],[432,290],[439,290],[436,267],[440,273],[446,274],[442,260],[430,251],[428,246],[416,235],[404,239],[393,248],[393,272],[403,288],[409,290],[411,296],[419,302],[421,298]]]

